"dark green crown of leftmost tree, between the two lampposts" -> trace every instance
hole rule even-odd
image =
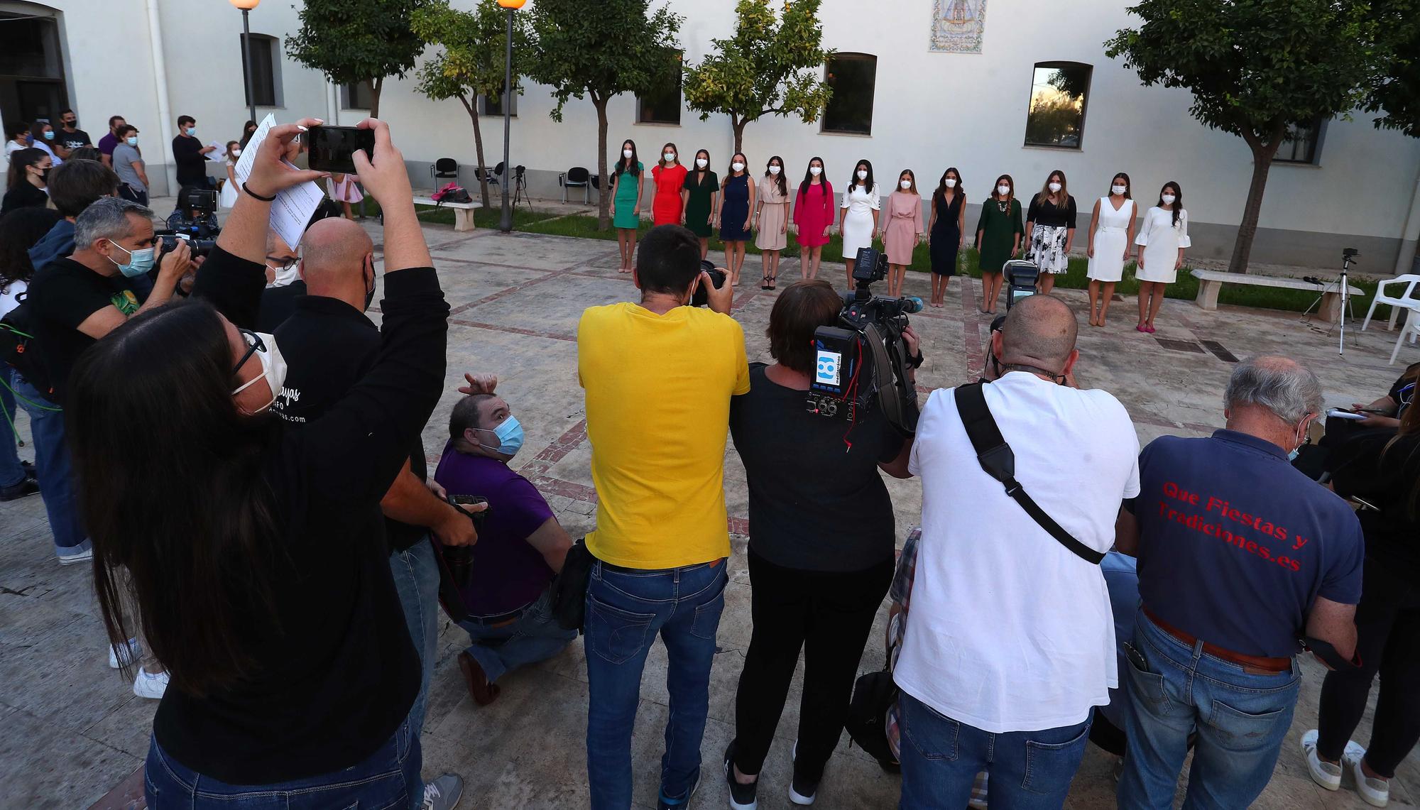
[[[429,0],[305,0],[301,30],[285,38],[290,57],[338,84],[369,81],[375,91],[386,75],[415,67],[425,40],[409,27],[413,11]]]

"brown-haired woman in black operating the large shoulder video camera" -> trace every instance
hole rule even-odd
[[[880,408],[851,422],[804,406],[816,362],[814,331],[835,325],[842,308],[828,281],[785,287],[767,331],[778,362],[751,364],[750,392],[730,405],[730,432],[750,486],[754,620],[736,695],[736,739],[726,750],[733,807],[754,804],[801,649],[804,696],[790,799],[814,800],[892,581],[896,530],[879,470],[909,477],[912,443]],[[910,327],[903,338],[916,355]]]

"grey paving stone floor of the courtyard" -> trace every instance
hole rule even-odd
[[[366,227],[379,242],[373,220]],[[456,234],[439,226],[429,226],[426,233],[453,306],[449,389],[425,431],[429,458],[435,459],[443,446],[446,418],[459,396],[454,387],[463,371],[497,372],[498,392],[527,429],[525,449],[514,466],[542,489],[568,531],[585,533],[595,519],[595,492],[575,378],[575,330],[584,307],[635,296],[629,276],[616,273],[616,246],[490,230]],[[781,281],[797,279],[798,260],[785,260],[780,273]],[[841,266],[826,264],[824,276],[843,283]],[[734,314],[746,327],[750,357],[768,360],[764,327],[774,293],[750,283],[758,277],[757,259],[750,257]],[[926,297],[927,290],[927,276],[912,274],[907,280],[909,294]],[[978,286],[954,280],[946,308],[914,315],[929,358],[919,375],[923,387],[954,385],[981,368],[988,318],[977,314],[978,291]],[[1083,323],[1083,293],[1062,294],[1081,310]],[[1204,435],[1223,423],[1220,398],[1231,368],[1227,352],[1241,357],[1281,351],[1302,360],[1321,375],[1328,405],[1370,401],[1400,368],[1386,367],[1393,333],[1348,335],[1346,355],[1338,357],[1326,324],[1306,323],[1296,314],[1228,307],[1206,313],[1189,301],[1166,301],[1157,335],[1145,335],[1133,330],[1133,298],[1116,300],[1106,328],[1082,327],[1078,377],[1082,385],[1113,392],[1129,408],[1140,442],[1164,433]],[[1200,341],[1217,341],[1220,351]],[[1402,364],[1416,360],[1420,350],[1402,350]],[[28,439],[23,416],[18,426]],[[135,442],[141,441],[135,436]],[[27,446],[21,455],[33,453]],[[726,803],[724,786],[714,773],[734,733],[734,691],[750,639],[747,493],[733,448],[726,449],[726,469],[734,557],[703,746],[707,779],[694,801],[697,807]],[[905,536],[916,522],[920,485],[889,479],[889,489],[899,536]],[[863,655],[865,671],[883,664],[880,625],[882,620]],[[487,708],[474,706],[464,692],[454,662],[463,644],[463,634],[446,622],[423,732],[425,773],[462,773],[464,809],[585,807],[586,675],[581,642],[551,661],[508,675],[503,696]],[[1363,807],[1349,779],[1342,792],[1326,793],[1312,784],[1298,757],[1298,736],[1315,725],[1322,675],[1318,665],[1305,666],[1292,733],[1257,807]],[[765,765],[765,809],[788,807],[797,699],[795,681]],[[146,750],[155,706],[135,698],[129,684],[108,669],[89,573],[55,563],[40,499],[0,504],[0,807],[135,807],[124,796],[141,794],[142,777],[135,769]],[[666,713],[665,651],[657,645],[646,666],[633,743],[638,806],[655,803]],[[1358,730],[1359,742],[1367,739],[1369,722],[1367,715]],[[1112,807],[1112,757],[1091,747],[1068,807]],[[1411,756],[1400,769],[1393,801],[1404,806],[1416,799],[1420,760]],[[851,749],[845,735],[818,806],[888,809],[896,801],[897,777]]]

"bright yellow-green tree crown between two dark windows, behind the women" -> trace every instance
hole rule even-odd
[[[728,115],[736,151],[750,121],[772,114],[812,124],[828,105],[834,91],[819,77],[832,51],[821,45],[819,1],[785,1],[781,21],[770,0],[740,0],[734,37],[711,40],[714,53],[686,68],[686,105],[701,121]]]

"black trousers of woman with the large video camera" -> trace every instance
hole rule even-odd
[[[858,662],[892,584],[892,558],[863,571],[785,568],[750,550],[754,631],[734,698],[736,767],[755,774],[804,649],[798,772],[822,774],[843,733]]]

